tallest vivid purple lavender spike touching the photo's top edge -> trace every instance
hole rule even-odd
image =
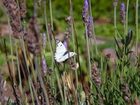
[[[89,15],[89,1],[84,0],[84,6],[82,11],[82,18],[85,23],[88,21],[88,15]]]

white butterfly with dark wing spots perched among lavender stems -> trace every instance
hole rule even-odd
[[[69,52],[61,41],[56,41],[56,44],[55,60],[57,62],[63,62],[76,55],[75,52]]]

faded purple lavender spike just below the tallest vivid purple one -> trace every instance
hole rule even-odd
[[[93,17],[89,16],[88,17],[88,22],[87,22],[87,35],[89,38],[92,37],[93,35]]]

